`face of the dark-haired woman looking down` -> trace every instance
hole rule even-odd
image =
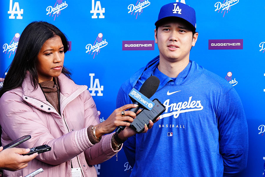
[[[37,57],[39,83],[58,77],[64,65],[64,46],[61,37],[55,36],[44,42]]]

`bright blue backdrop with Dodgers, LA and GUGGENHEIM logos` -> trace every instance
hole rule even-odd
[[[52,23],[70,41],[64,66],[72,71],[72,79],[77,84],[89,87],[100,119],[104,121],[115,109],[120,85],[159,54],[153,43],[154,22],[160,7],[170,2],[175,1],[3,0],[0,2],[0,45],[3,46],[0,76],[4,76],[14,58],[24,28],[32,21]],[[181,2],[192,6],[197,17],[199,35],[190,59],[227,79],[244,105],[249,127],[249,155],[246,170],[238,176],[262,176],[265,1]],[[125,47],[123,41],[147,42],[148,45]],[[112,158],[95,167],[102,177],[117,173],[129,176],[131,171],[123,150],[118,153],[118,161]]]

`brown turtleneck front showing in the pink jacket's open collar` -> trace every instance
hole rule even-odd
[[[53,81],[44,81],[39,83],[42,87],[44,95],[47,98],[47,101],[52,104],[52,106],[56,109],[56,111],[61,115],[60,105],[58,100],[58,92],[57,92],[57,78],[53,78]]]

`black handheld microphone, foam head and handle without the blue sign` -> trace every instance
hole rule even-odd
[[[148,79],[146,79],[146,81],[141,86],[140,93],[149,99],[155,94],[156,90],[158,89],[159,84],[160,84],[159,78],[157,78],[156,76],[150,76]],[[130,108],[129,111],[136,113],[140,109],[142,104],[136,100],[132,102],[133,104],[137,104],[139,106],[136,108]],[[115,132],[120,133],[120,131],[124,130],[125,127],[126,126],[119,126],[117,127]]]

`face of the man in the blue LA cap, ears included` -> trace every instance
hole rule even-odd
[[[189,60],[191,46],[195,46],[198,33],[192,36],[185,23],[166,22],[155,30],[160,59],[169,62]]]

